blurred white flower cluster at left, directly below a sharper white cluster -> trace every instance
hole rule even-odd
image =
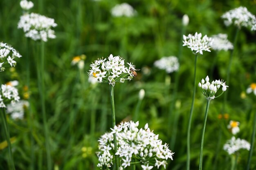
[[[7,105],[6,113],[11,114],[12,119],[23,119],[25,108],[28,106],[29,102],[26,100],[11,102]]]

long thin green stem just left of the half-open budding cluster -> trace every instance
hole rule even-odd
[[[195,54],[195,64],[194,64],[194,89],[193,89],[193,97],[192,97],[192,104],[189,113],[189,126],[187,131],[187,157],[186,157],[186,170],[190,169],[190,131],[191,131],[191,122],[193,116],[193,109],[194,109],[194,102],[195,102],[195,87],[196,87],[196,63],[197,63],[198,55]]]

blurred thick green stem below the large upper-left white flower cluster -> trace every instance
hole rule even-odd
[[[41,41],[41,54],[40,54],[40,97],[41,97],[41,109],[43,114],[43,128],[45,133],[45,148],[46,148],[46,156],[47,156],[47,169],[52,169],[52,159],[51,159],[51,152],[50,152],[50,145],[49,145],[49,131],[47,125],[47,118],[45,112],[45,82],[44,82],[44,51],[45,51],[45,44],[43,40]]]

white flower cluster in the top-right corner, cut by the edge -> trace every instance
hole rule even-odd
[[[224,24],[229,26],[234,24],[241,28],[242,26],[251,28],[252,31],[256,30],[256,18],[252,15],[246,7],[238,7],[224,13],[221,18],[224,19]]]

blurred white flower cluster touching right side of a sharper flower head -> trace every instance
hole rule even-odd
[[[229,49],[234,49],[234,46],[227,39],[227,34],[217,34],[212,37],[213,43],[211,44],[211,48],[217,51],[224,50],[228,51]]]

